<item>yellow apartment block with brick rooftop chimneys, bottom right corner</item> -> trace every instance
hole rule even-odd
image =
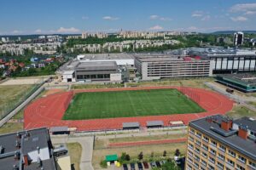
[[[207,116],[189,122],[187,170],[255,170],[256,120]]]

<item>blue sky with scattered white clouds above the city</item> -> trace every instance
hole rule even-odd
[[[0,35],[256,30],[255,0],[1,0]]]

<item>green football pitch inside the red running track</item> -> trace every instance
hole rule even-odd
[[[177,89],[75,94],[64,120],[199,113],[204,110]]]

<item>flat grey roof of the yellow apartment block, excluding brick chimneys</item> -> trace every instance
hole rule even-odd
[[[241,154],[248,156],[253,159],[253,161],[256,161],[256,143],[255,141],[251,139],[241,139],[237,134],[224,137],[219,133],[216,133],[212,131],[212,127],[214,129],[217,129],[219,131],[222,130],[222,128],[219,126],[220,122],[225,119],[224,116],[216,115],[214,116],[216,118],[216,122],[207,122],[207,118],[201,118],[199,120],[195,120],[192,122],[189,122],[189,126],[194,127],[195,129],[201,131],[202,133],[207,134],[212,139],[218,140],[220,143],[228,145],[230,148],[234,150],[238,150]],[[236,122],[236,121],[235,121]],[[246,124],[243,124],[246,126]]]

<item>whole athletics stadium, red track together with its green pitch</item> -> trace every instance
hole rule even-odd
[[[78,89],[36,99],[25,109],[24,128],[106,131],[148,124],[172,127],[172,122],[187,125],[200,117],[225,114],[232,107],[232,100],[201,88]]]

